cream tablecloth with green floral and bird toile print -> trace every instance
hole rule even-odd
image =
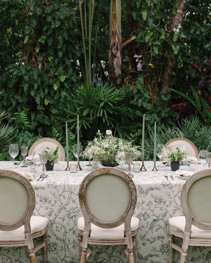
[[[83,171],[70,173],[65,171],[66,162],[54,165],[54,171],[46,172],[48,177],[32,182],[36,195],[34,215],[48,217],[48,262],[78,263],[79,248],[77,236],[77,218],[82,216],[78,193],[84,177],[92,171],[87,162],[81,162]],[[16,166],[17,171],[29,171],[29,167]],[[11,168],[12,162],[0,162],[0,168]],[[162,166],[158,172],[152,172],[153,162],[145,162],[146,172],[134,173],[133,181],[137,187],[138,199],[134,216],[140,220],[137,234],[138,263],[168,262],[168,218],[182,215],[180,194],[184,180]],[[187,170],[188,166],[181,169]],[[200,165],[197,169],[202,169]],[[127,167],[123,167],[128,171]],[[165,174],[172,173],[173,179]],[[38,178],[38,175],[36,174]],[[37,242],[40,240],[38,239]],[[181,240],[177,240],[181,244]],[[90,246],[92,255],[88,262],[127,262],[124,246]],[[187,262],[211,262],[211,248],[190,247]],[[42,251],[36,253],[37,262],[42,262]],[[175,262],[180,254],[174,252]],[[29,262],[26,247],[0,248],[1,263]]]

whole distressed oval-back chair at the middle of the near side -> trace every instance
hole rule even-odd
[[[91,255],[89,244],[126,245],[129,263],[135,262],[139,219],[132,217],[137,192],[123,171],[105,167],[89,173],[79,189],[83,217],[78,219],[80,262]]]

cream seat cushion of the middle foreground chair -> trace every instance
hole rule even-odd
[[[138,228],[139,219],[137,217],[131,218],[131,231],[134,231]],[[79,217],[78,219],[78,228],[84,230],[84,218]],[[124,238],[124,224],[116,228],[100,228],[91,223],[91,238]]]

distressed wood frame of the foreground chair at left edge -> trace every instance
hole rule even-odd
[[[0,222],[0,230],[2,231],[15,230],[24,225],[26,238],[18,240],[1,240],[0,237],[0,247],[27,246],[31,263],[36,263],[35,252],[38,251],[40,248],[43,248],[44,263],[47,263],[47,226],[44,229],[33,234],[31,232],[30,219],[35,207],[35,193],[31,183],[20,173],[13,170],[0,169],[0,177],[1,176],[14,178],[26,187],[28,193],[28,207],[25,214],[21,216],[16,222],[12,224],[2,224]],[[38,238],[41,236],[43,238],[42,243],[34,248],[33,238]]]

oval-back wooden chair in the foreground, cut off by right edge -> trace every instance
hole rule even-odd
[[[184,216],[169,218],[169,263],[173,248],[187,259],[188,246],[211,246],[211,169],[194,173],[183,185],[181,207]],[[173,243],[173,236],[183,238],[182,247]]]

